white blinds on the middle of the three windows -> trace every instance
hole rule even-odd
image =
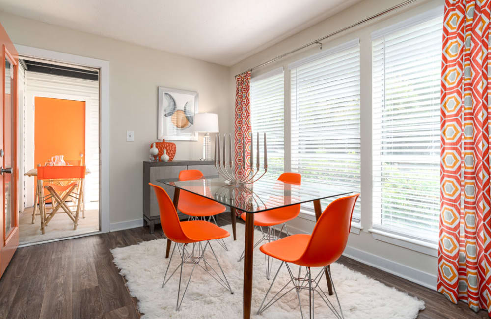
[[[360,191],[360,47],[355,39],[291,72],[291,165],[302,181]],[[323,208],[331,200],[323,201]],[[312,209],[312,204],[305,205]],[[360,218],[356,204],[353,219]]]

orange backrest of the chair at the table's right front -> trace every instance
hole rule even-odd
[[[360,194],[332,201],[315,224],[310,242],[300,260],[311,267],[327,266],[335,262],[348,242],[351,217]]]

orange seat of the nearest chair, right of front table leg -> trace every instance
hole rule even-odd
[[[268,242],[262,245],[259,249],[268,256],[287,263],[296,264],[296,261],[299,260],[305,252],[305,249],[310,241],[310,236],[311,235],[308,234],[290,235],[282,239]]]

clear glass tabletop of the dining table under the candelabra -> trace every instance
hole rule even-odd
[[[218,175],[190,181],[173,178],[160,179],[157,182],[210,198],[246,213],[259,213],[353,193],[349,189],[330,187],[321,183],[290,184],[267,177],[245,186],[228,185],[228,181]]]

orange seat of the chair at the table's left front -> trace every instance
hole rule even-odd
[[[183,221],[181,228],[188,239],[180,243],[185,244],[230,236],[230,233],[223,228],[204,220]]]

